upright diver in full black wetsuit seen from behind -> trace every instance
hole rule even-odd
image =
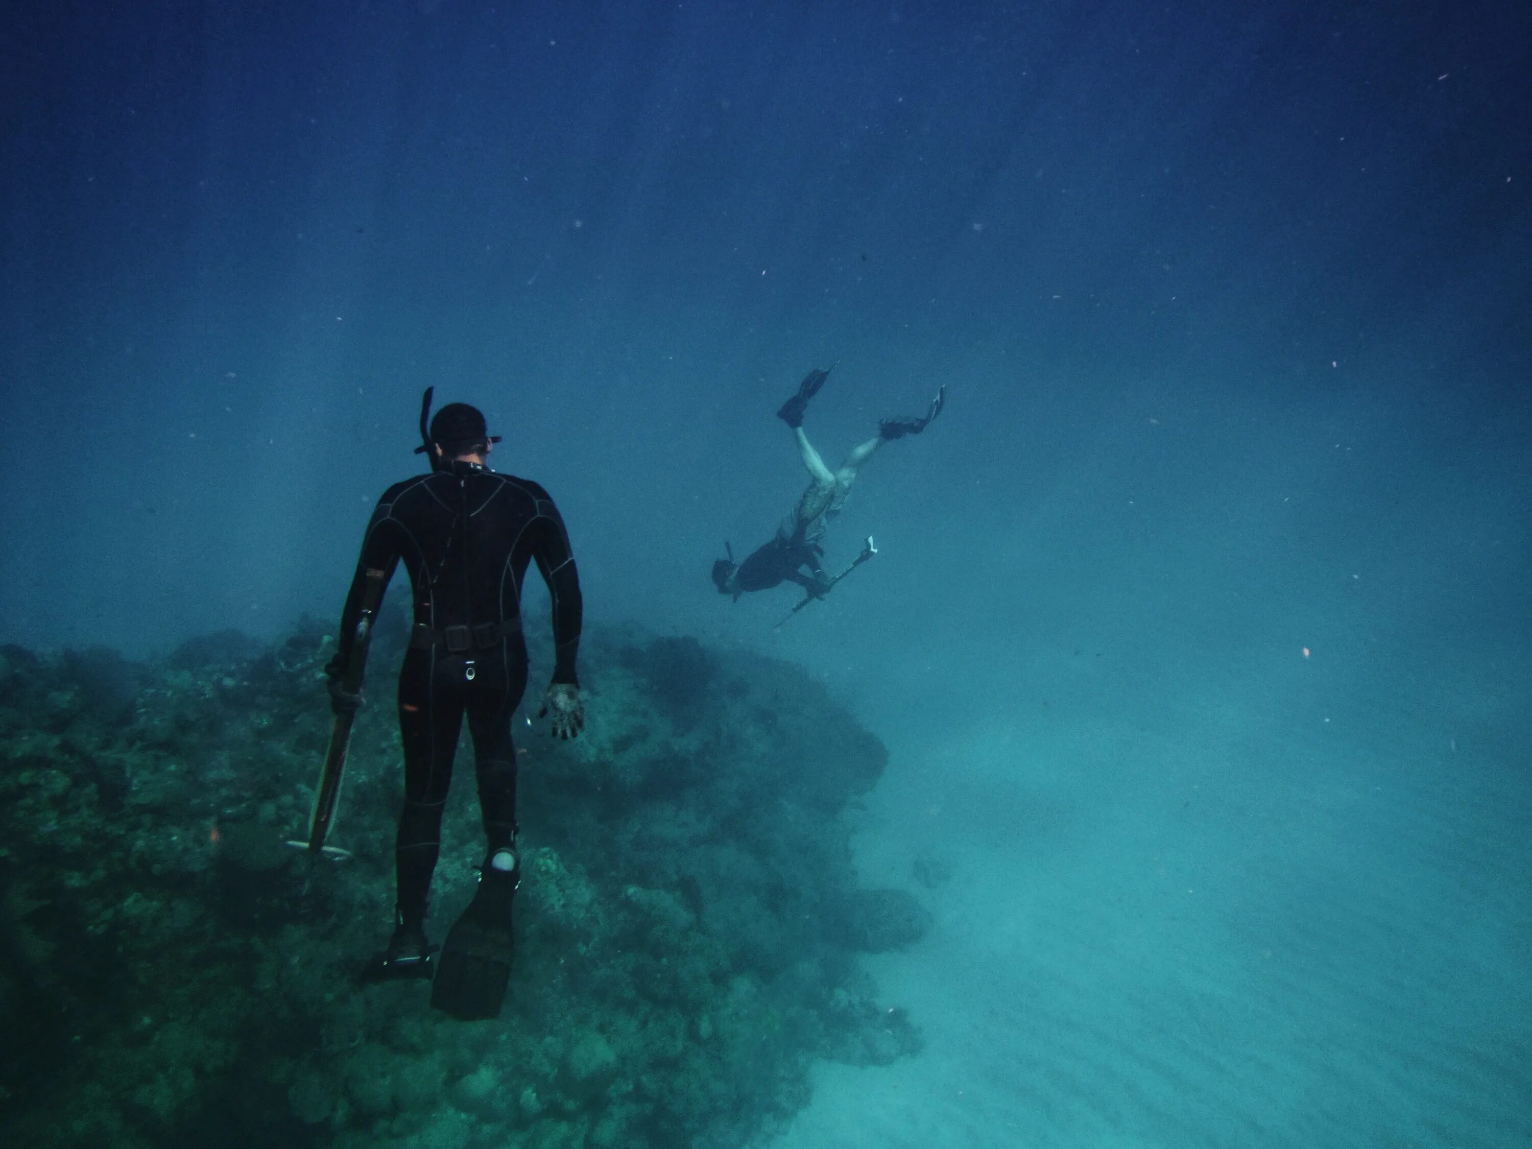
[[[420,414],[424,444],[415,453],[426,453],[432,473],[397,483],[378,499],[326,673],[336,712],[354,711],[362,696],[348,691],[343,677],[354,654],[366,657],[365,647],[354,650],[352,637],[363,602],[375,611],[403,561],[415,624],[398,679],[404,809],[394,850],[395,928],[369,974],[435,973],[432,1005],[460,1017],[493,1017],[510,973],[510,908],[521,873],[516,751],[510,740],[510,719],[527,685],[521,587],[527,567],[536,562],[553,601],[556,651],[553,682],[538,717],[552,715],[552,732],[561,738],[578,735],[585,722],[574,674],[581,591],[568,535],[548,493],[484,464],[490,444],[499,443],[499,435],[487,434],[484,415],[466,403],[449,403],[427,432],[429,412],[426,391]],[[473,901],[432,961],[426,898],[464,714],[489,852]]]

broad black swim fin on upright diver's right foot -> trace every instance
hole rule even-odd
[[[447,931],[430,984],[434,1008],[464,1022],[499,1017],[510,984],[510,902],[521,863],[506,872],[486,866],[473,901]]]

